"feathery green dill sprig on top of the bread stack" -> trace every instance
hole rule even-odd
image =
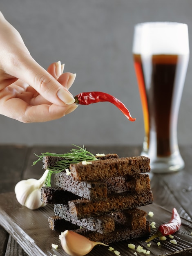
[[[72,148],[69,153],[65,154],[56,154],[56,153],[41,153],[41,155],[36,155],[39,157],[36,161],[33,162],[32,166],[37,162],[42,161],[43,157],[51,156],[51,157],[63,157],[64,159],[55,163],[54,167],[47,166],[49,170],[47,177],[45,178],[45,186],[51,186],[51,175],[53,173],[60,173],[61,171],[65,171],[65,169],[69,168],[70,164],[77,164],[82,161],[94,161],[98,160],[95,155],[86,150],[86,148],[81,148],[80,146],[76,146],[77,148]]]

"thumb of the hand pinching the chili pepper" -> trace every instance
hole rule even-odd
[[[30,55],[25,56],[25,61],[14,63],[13,76],[31,85],[42,97],[58,106],[70,105],[75,102],[72,94],[60,84],[49,72],[41,67]]]

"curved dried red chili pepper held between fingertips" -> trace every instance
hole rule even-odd
[[[125,105],[116,99],[114,96],[107,94],[105,92],[81,92],[80,94],[76,95],[75,103],[80,105],[89,105],[92,103],[108,101],[114,104],[123,114],[129,119],[129,121],[135,121],[136,118],[132,118],[129,113],[129,110],[125,107]]]

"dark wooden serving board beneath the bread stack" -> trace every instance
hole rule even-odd
[[[153,203],[145,207],[141,207],[147,213],[154,212],[154,217],[147,216],[151,223],[156,222],[156,227],[162,223],[168,222],[172,213],[159,205]],[[51,205],[31,211],[26,207],[22,207],[16,200],[15,193],[0,194],[0,225],[13,236],[13,238],[20,244],[20,246],[30,256],[67,256],[60,245],[59,235],[57,231],[49,229],[48,217],[54,215],[54,210]],[[155,230],[151,230],[154,234]],[[123,242],[113,243],[115,250],[120,252],[121,256],[133,256],[136,249],[129,249],[128,243],[143,246],[144,249],[150,250],[150,256],[163,255],[192,255],[192,222],[182,218],[182,225],[179,231],[174,234],[174,239],[177,245],[170,243],[170,238],[161,241],[158,246],[158,238],[151,242],[151,247],[147,247],[145,239],[139,238],[134,240],[127,240]],[[53,249],[51,244],[57,244],[58,249]],[[88,254],[89,256],[115,256],[113,252],[108,250],[108,247],[96,246]],[[145,255],[138,253],[137,255]]]

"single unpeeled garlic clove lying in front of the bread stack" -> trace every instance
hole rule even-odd
[[[94,246],[105,245],[104,243],[93,242],[85,236],[70,230],[65,230],[60,239],[64,251],[70,256],[84,256],[91,252]]]

